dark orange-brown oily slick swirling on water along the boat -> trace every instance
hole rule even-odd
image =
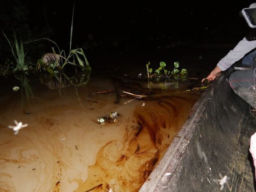
[[[187,96],[137,105],[124,137],[100,149],[95,165],[89,167],[90,177],[76,191],[138,191],[187,119],[197,99],[190,95],[191,102]]]

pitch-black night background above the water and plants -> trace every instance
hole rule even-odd
[[[239,11],[253,2],[76,0],[72,48],[84,48],[89,61],[102,58],[111,63],[111,58],[136,58],[144,54],[150,59],[152,53],[171,54],[173,50],[187,55],[192,51],[191,45],[232,47],[250,30]],[[3,0],[0,28],[9,39],[15,30],[23,42],[47,37],[68,50],[73,4],[73,0]],[[37,57],[51,51],[51,46],[41,41],[26,45],[25,49]],[[4,62],[10,47],[2,34],[0,50]]]

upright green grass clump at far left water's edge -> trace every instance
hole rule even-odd
[[[3,31],[2,31],[2,33],[4,34]],[[13,71],[26,71],[26,70],[28,70],[28,65],[26,65],[26,63],[25,63],[26,53],[24,52],[23,43],[22,43],[22,41],[20,41],[20,43],[18,42],[15,32],[13,32],[13,34],[14,34],[13,35],[14,36],[14,45],[11,44],[11,42],[9,41],[7,36],[4,34],[4,37],[7,39],[8,43],[10,45],[11,52],[16,61],[16,67],[15,67],[15,69],[13,69]]]

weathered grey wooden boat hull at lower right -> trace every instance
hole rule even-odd
[[[249,105],[232,91],[227,75],[216,78],[139,192],[219,192],[220,174],[229,178],[223,191],[255,191],[249,153],[255,132]]]

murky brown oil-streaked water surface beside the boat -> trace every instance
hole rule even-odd
[[[136,192],[201,94],[175,93],[173,83],[149,89],[147,82],[96,76],[82,86],[30,84],[30,99],[29,90],[12,91],[20,86],[14,81],[2,91],[1,192]],[[179,84],[178,90],[187,87]],[[95,94],[106,90],[115,91]],[[122,91],[157,96],[135,99]],[[117,121],[97,123],[115,111]],[[14,119],[28,124],[17,135],[7,128]]]

